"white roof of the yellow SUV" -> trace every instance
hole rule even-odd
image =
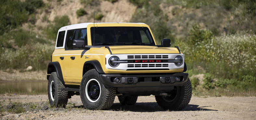
[[[93,24],[93,23],[79,23],[79,24],[68,25],[68,26],[61,27],[59,30],[61,30],[61,29],[80,29],[80,28],[87,28],[87,26],[88,26],[89,24]],[[106,23],[94,23],[94,24],[106,24]],[[128,24],[145,24],[145,23],[128,23]]]

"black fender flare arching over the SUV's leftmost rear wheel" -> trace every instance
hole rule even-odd
[[[47,74],[51,74],[52,72],[57,72],[57,76],[59,78],[59,80],[65,84],[64,80],[63,80],[63,75],[62,75],[62,71],[59,65],[59,62],[50,62],[48,64],[48,68],[47,68]],[[49,80],[50,75],[47,75],[47,80]]]

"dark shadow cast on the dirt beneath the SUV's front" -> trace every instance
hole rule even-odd
[[[212,109],[206,109],[204,107],[211,106],[202,106],[188,104],[182,111],[218,111]],[[133,111],[133,112],[156,112],[156,111],[167,111],[162,109],[156,102],[149,103],[136,103],[134,105],[122,105],[120,103],[114,103],[109,110],[113,111]]]

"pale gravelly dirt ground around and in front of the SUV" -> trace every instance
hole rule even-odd
[[[42,103],[47,95],[0,95],[0,101]],[[249,119],[256,120],[256,97],[192,97],[182,111],[161,109],[154,96],[139,96],[132,106],[121,105],[116,97],[109,110],[86,110],[81,108],[80,96],[69,99],[73,108],[49,108],[21,114],[5,112],[1,119]]]

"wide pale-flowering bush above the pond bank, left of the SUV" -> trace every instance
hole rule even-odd
[[[51,61],[51,54],[54,51],[54,45],[49,44],[26,44],[19,49],[0,50],[0,69],[25,69],[32,66],[32,70],[46,70]]]

